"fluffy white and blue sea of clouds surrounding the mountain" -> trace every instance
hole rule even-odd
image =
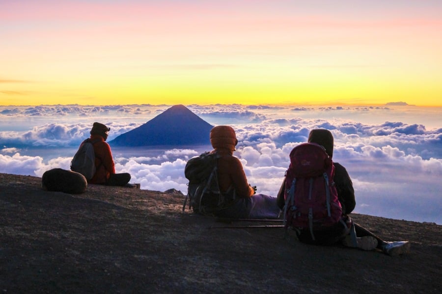
[[[146,123],[170,105],[0,106],[0,172],[41,176],[69,169],[93,122],[111,127],[108,141]],[[441,108],[411,105],[274,106],[187,105],[212,125],[229,124],[249,183],[276,196],[288,154],[313,128],[334,136],[333,160],[352,177],[355,212],[442,223]],[[208,140],[209,144],[209,140]],[[210,146],[112,148],[116,172],[141,189],[187,192],[184,167]]]

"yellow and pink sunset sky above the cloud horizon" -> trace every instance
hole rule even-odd
[[[0,0],[0,105],[442,106],[440,0]]]

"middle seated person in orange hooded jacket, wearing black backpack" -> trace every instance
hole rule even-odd
[[[218,183],[221,193],[230,197],[231,204],[216,212],[218,217],[245,219],[277,219],[280,209],[276,197],[255,194],[256,187],[247,181],[241,161],[233,156],[238,144],[235,130],[227,125],[219,125],[210,131],[210,143],[217,153]]]

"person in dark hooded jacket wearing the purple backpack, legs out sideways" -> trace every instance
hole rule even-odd
[[[326,129],[311,130],[308,135],[308,142],[323,146],[327,154],[333,156],[333,135]],[[298,239],[307,244],[332,245],[341,242],[349,247],[358,247],[363,250],[379,248],[390,255],[407,253],[410,250],[408,241],[387,242],[376,236],[366,228],[353,222],[349,214],[355,209],[355,190],[347,170],[337,162],[333,162],[335,168],[334,183],[336,186],[339,202],[342,206],[342,221],[327,230],[315,232],[316,240],[311,239],[309,230],[297,229]],[[285,181],[283,181],[277,196],[277,205],[283,209]],[[343,225],[343,224],[346,225]],[[353,234],[351,231],[353,230]],[[352,237],[353,235],[353,237]]]

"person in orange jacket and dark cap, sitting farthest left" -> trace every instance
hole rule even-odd
[[[94,146],[96,172],[87,182],[98,185],[125,186],[129,183],[131,175],[127,172],[115,173],[111,147],[106,143],[110,130],[111,128],[103,123],[95,122],[92,125],[90,142]]]

